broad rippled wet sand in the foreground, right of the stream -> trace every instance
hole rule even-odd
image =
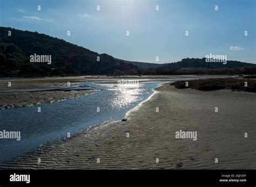
[[[165,84],[127,121],[91,128],[6,168],[256,169],[255,106],[255,93]],[[179,130],[197,131],[197,140],[176,139]]]

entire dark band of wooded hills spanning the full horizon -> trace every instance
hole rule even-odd
[[[11,31],[11,35],[9,35]],[[51,62],[31,61],[31,55],[51,57]],[[33,59],[33,60],[35,60]],[[208,63],[212,74],[256,73],[256,64],[239,61]],[[252,67],[254,66],[254,67]],[[246,67],[234,69],[236,67]],[[247,68],[250,67],[250,68]],[[190,68],[192,70],[183,70]],[[197,70],[194,70],[197,68]],[[0,77],[43,77],[79,75],[180,75],[207,74],[205,59],[183,59],[169,64],[131,62],[98,54],[84,47],[37,32],[0,27]],[[229,68],[229,69],[228,69]],[[231,69],[233,68],[233,69]]]

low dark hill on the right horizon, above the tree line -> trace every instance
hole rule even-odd
[[[205,62],[205,58],[203,59],[182,59],[179,62],[174,63],[168,63],[164,64],[162,68],[207,68],[207,65],[209,65],[209,68],[235,68],[235,67],[251,67],[256,66],[256,64],[253,63],[246,63],[246,62],[240,62],[240,61],[233,61],[233,60],[227,60],[226,64],[220,63],[220,62],[209,62],[208,64]]]

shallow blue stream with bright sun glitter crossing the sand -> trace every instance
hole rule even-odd
[[[75,135],[89,126],[121,120],[127,111],[148,98],[160,83],[163,82],[118,86],[82,83],[100,91],[58,103],[2,110],[0,131],[21,131],[21,140],[0,139],[0,160],[12,160],[36,150],[42,143],[62,139],[68,133]],[[37,112],[38,107],[41,107],[41,112]]]

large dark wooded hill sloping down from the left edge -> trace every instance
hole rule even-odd
[[[51,55],[51,64],[30,62],[34,54]],[[49,35],[0,27],[0,77],[112,75],[134,68],[131,63]]]

